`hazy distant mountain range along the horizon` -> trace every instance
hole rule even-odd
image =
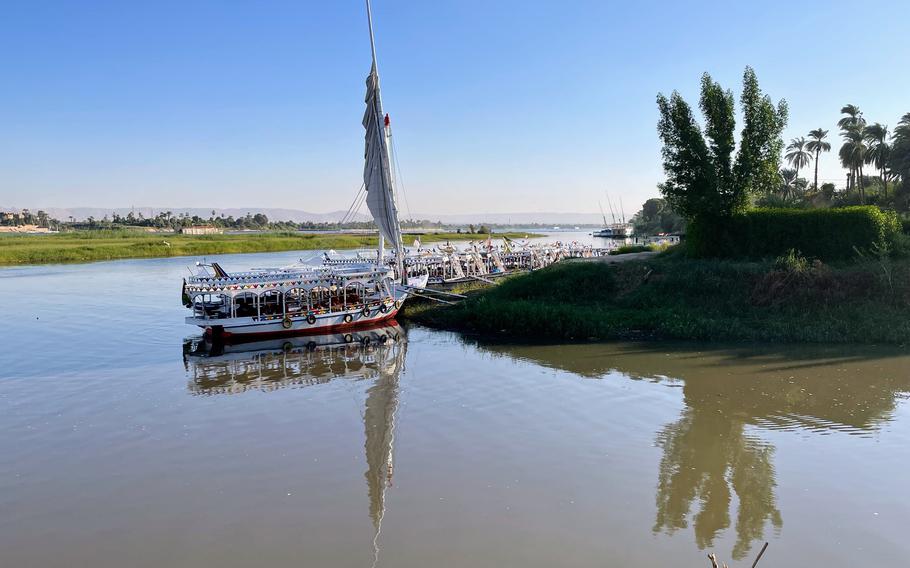
[[[18,211],[17,207],[0,206],[0,211]],[[29,208],[33,213],[41,208]],[[105,215],[113,216],[114,213],[126,216],[130,211],[136,215],[142,213],[144,217],[155,217],[163,211],[170,211],[175,216],[181,213],[193,216],[198,215],[208,219],[212,215],[213,209],[201,207],[48,207],[44,211],[61,221],[67,221],[73,217],[77,221],[84,221],[89,217],[102,219]],[[294,221],[295,223],[313,222],[313,223],[333,223],[341,221],[344,217],[344,211],[330,211],[328,213],[312,213],[300,209],[280,209],[273,207],[233,207],[229,209],[215,208],[215,215],[225,217],[243,217],[247,213],[255,215],[263,213],[271,221]],[[629,215],[631,216],[631,215]],[[404,215],[402,215],[404,217]],[[598,213],[454,213],[447,215],[438,215],[435,213],[413,213],[410,215],[413,219],[427,219],[430,221],[442,221],[443,223],[459,224],[481,224],[490,223],[497,225],[528,225],[533,223],[545,223],[548,225],[596,225],[602,223],[602,218]],[[369,221],[369,215],[358,213],[354,221]]]

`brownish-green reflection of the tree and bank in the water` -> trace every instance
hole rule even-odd
[[[868,346],[478,346],[592,379],[622,375],[681,385],[683,409],[655,439],[663,455],[653,531],[691,526],[705,549],[733,526],[736,560],[769,526],[783,526],[775,446],[763,431],[871,436],[910,393],[907,352]]]

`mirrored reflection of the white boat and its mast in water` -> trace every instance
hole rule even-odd
[[[204,337],[184,343],[188,389],[196,395],[239,394],[325,384],[334,379],[369,380],[363,412],[364,473],[373,523],[374,559],[392,483],[398,379],[407,340],[394,322],[342,334],[219,345]]]

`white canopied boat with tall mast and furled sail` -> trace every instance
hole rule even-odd
[[[231,273],[217,263],[197,264],[197,271],[184,279],[181,296],[192,310],[186,323],[207,335],[240,339],[372,326],[395,317],[412,292],[426,286],[426,271],[405,267],[389,153],[391,126],[382,110],[369,3],[367,19],[373,62],[366,81],[363,178],[367,206],[379,228],[376,259]],[[384,262],[386,242],[394,247],[393,266]]]

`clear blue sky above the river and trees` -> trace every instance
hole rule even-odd
[[[658,92],[746,65],[785,139],[910,112],[906,0],[374,0],[408,213],[628,212],[658,194]],[[853,36],[853,37],[851,37]],[[5,2],[0,206],[344,210],[362,181],[360,0]],[[739,126],[738,126],[739,128]],[[807,172],[808,173],[808,172]],[[811,177],[807,176],[807,177]]]

